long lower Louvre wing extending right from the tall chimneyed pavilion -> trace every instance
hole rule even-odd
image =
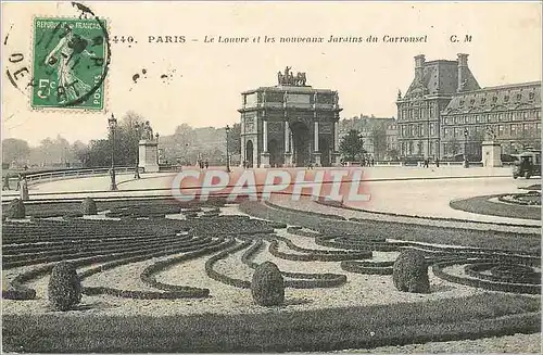
[[[541,148],[541,81],[490,87],[457,94],[441,114],[443,155],[481,155],[490,129],[503,154]],[[466,135],[467,134],[467,135]],[[459,142],[459,144],[458,144]]]

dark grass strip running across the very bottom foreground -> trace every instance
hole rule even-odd
[[[541,330],[538,297],[455,300],[251,315],[4,315],[5,352],[307,352],[477,339]]]

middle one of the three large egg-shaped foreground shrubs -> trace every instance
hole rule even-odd
[[[251,281],[251,293],[261,306],[278,306],[285,302],[285,281],[281,271],[272,262],[256,268]]]

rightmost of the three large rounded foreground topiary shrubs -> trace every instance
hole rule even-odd
[[[394,287],[400,291],[429,293],[428,264],[425,254],[418,250],[402,251],[392,268]]]

